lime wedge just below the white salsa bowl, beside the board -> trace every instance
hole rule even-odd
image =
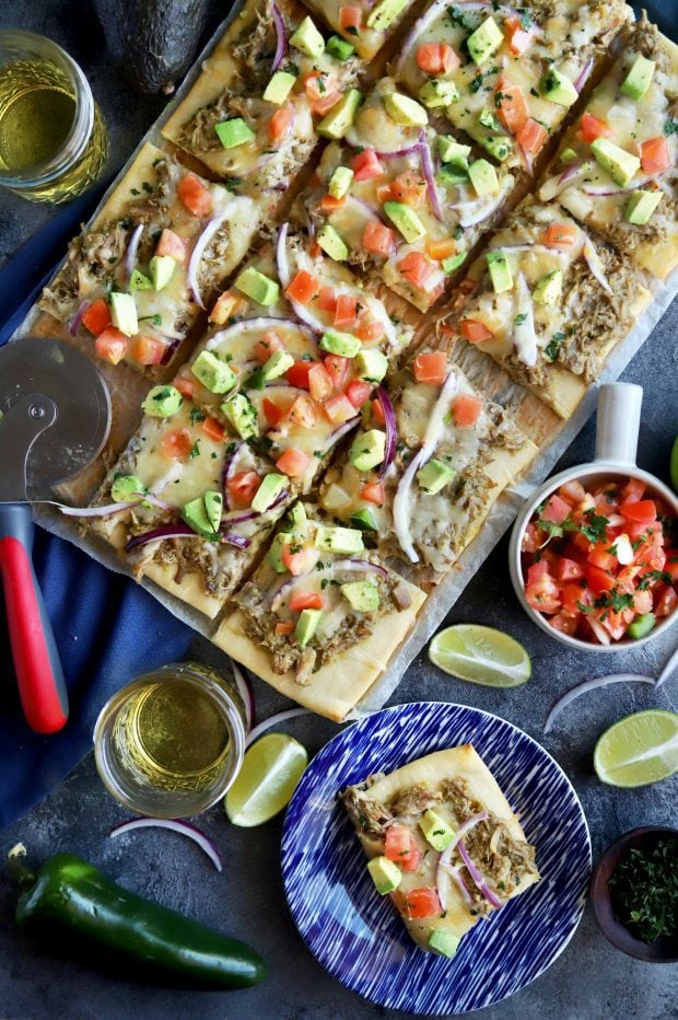
[[[445,673],[486,687],[518,687],[533,672],[529,656],[515,638],[479,624],[441,630],[429,645],[429,658]]]

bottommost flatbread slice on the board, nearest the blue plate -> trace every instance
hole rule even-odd
[[[360,531],[326,525],[296,503],[213,641],[277,691],[340,721],[386,669],[424,599],[365,552]]]

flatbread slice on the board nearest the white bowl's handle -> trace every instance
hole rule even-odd
[[[651,300],[630,260],[556,201],[522,202],[464,281],[452,331],[568,418]]]

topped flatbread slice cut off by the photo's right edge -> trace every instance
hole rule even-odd
[[[564,136],[539,196],[557,197],[664,279],[678,265],[677,159],[678,46],[643,15]]]

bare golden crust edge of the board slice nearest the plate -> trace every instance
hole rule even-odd
[[[320,716],[341,722],[386,669],[424,603],[426,596],[419,588],[407,581],[401,583],[407,587],[411,604],[399,613],[379,617],[365,641],[353,645],[320,667],[307,686],[297,684],[292,671],[273,672],[267,650],[245,634],[245,615],[241,610],[223,621],[212,641],[276,691]]]

